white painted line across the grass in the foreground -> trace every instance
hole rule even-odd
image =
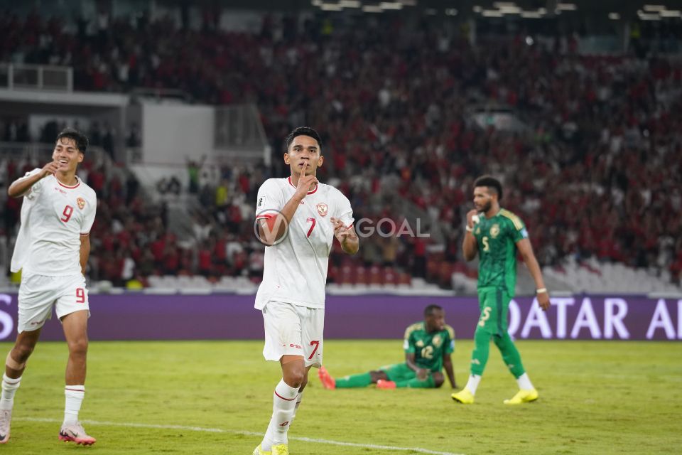
[[[44,417],[15,417],[13,420],[20,420],[23,422],[62,422],[59,419],[48,419]],[[129,427],[129,428],[154,428],[154,429],[184,429],[189,432],[206,432],[206,433],[229,433],[242,434],[244,436],[263,436],[263,433],[244,432],[236,429],[221,429],[221,428],[203,428],[203,427],[186,427],[184,425],[160,425],[160,424],[136,424],[127,422],[99,422],[97,420],[81,420],[84,424],[90,425],[105,425],[109,427]],[[332,446],[347,446],[347,447],[361,447],[362,449],[378,449],[378,450],[394,450],[394,451],[413,451],[419,454],[429,455],[464,455],[453,454],[452,452],[439,452],[429,449],[421,449],[421,447],[396,447],[396,446],[380,446],[377,444],[360,444],[357,442],[332,441],[330,439],[313,439],[306,437],[289,437],[294,441],[315,442],[317,444],[330,444]]]

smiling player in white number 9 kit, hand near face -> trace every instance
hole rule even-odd
[[[87,318],[90,306],[85,287],[85,264],[90,255],[90,228],[97,196],[76,176],[83,161],[87,137],[65,129],[57,137],[52,159],[40,169],[14,181],[7,191],[23,196],[21,228],[11,270],[21,270],[18,296],[18,336],[9,352],[0,397],[0,443],[9,440],[14,394],[26,360],[38,342],[40,329],[55,306],[69,348],[66,365],[66,405],[59,432],[62,441],[94,444],[78,412],[85,395]]]

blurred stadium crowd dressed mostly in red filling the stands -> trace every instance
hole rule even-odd
[[[77,90],[167,87],[211,104],[255,102],[273,141],[271,168],[222,168],[201,178],[193,193],[206,209],[196,213],[189,243],[168,231],[163,207],[145,207],[124,182],[105,177],[93,260],[98,251],[116,260],[99,260],[101,278],[259,279],[255,194],[265,178],[286,175],[281,141],[308,124],[325,139],[318,176],[350,198],[356,218],[399,221],[399,200],[408,200],[445,239],[444,251],[433,252],[428,240],[373,236],[362,240],[359,258],[344,261],[401,264],[448,286],[461,267],[472,181],[493,173],[506,188],[502,205],[524,219],[542,264],[597,257],[667,269],[679,282],[681,65],[585,57],[559,43],[528,45],[517,36],[472,45],[433,23],[377,17],[342,24],[264,16],[259,33],[234,33],[141,16],[109,18],[90,34],[36,14],[0,18],[0,61],[72,65]],[[524,127],[481,126],[473,107],[511,107]],[[4,167],[11,181],[18,169]],[[87,181],[95,176],[90,169]],[[4,211],[13,232],[17,203],[8,200]],[[339,279],[341,259],[332,255],[331,280]]]

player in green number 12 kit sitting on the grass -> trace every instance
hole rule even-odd
[[[334,379],[321,367],[318,376],[325,389],[347,389],[377,384],[380,389],[396,387],[434,388],[445,382],[445,368],[453,389],[455,373],[450,354],[455,350],[455,332],[445,324],[445,311],[438,305],[424,309],[424,320],[413,323],[405,331],[405,362],[386,365],[379,370]]]

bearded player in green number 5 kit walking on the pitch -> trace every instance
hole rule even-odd
[[[467,261],[474,259],[477,252],[480,256],[478,301],[481,316],[474,334],[469,380],[464,389],[452,395],[453,400],[464,404],[474,402],[488,360],[490,338],[519,384],[519,392],[511,400],[504,400],[504,404],[520,405],[538,399],[538,392],[521,363],[521,355],[507,333],[509,301],[516,287],[517,250],[521,252],[535,281],[538,304],[543,310],[549,308],[549,294],[524,223],[514,213],[500,208],[500,200],[502,184],[497,179],[490,176],[477,178],[474,183],[475,210],[467,213],[467,232],[462,251]]]

